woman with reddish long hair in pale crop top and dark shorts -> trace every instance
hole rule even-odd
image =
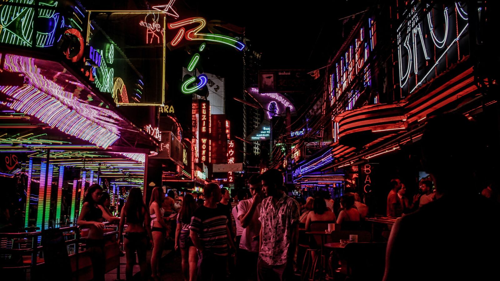
[[[149,214],[151,214],[151,233],[153,237],[153,253],[151,255],[151,277],[159,280],[159,259],[165,243],[167,225],[163,221],[164,211],[161,208],[163,203],[163,190],[159,187],[153,188],[151,200],[149,201]]]

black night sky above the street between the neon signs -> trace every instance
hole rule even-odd
[[[202,15],[244,26],[246,37],[262,53],[263,68],[313,69],[324,66],[342,43],[339,18],[364,10],[365,2],[370,1],[176,0],[175,7],[181,17]],[[347,23],[345,36],[352,23]]]

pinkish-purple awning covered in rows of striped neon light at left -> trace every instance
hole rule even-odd
[[[96,107],[77,99],[53,81],[40,75],[34,59],[6,55],[5,69],[22,72],[29,78],[23,86],[0,86],[0,90],[15,100],[7,105],[35,116],[62,132],[107,148],[119,138],[120,119],[111,110]]]

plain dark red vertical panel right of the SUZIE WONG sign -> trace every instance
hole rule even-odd
[[[227,163],[227,135],[225,128],[225,114],[211,115],[210,141],[210,163]]]

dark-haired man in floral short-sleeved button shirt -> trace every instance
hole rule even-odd
[[[260,251],[257,263],[259,281],[293,279],[293,258],[298,239],[297,202],[288,197],[283,175],[275,169],[260,176],[266,199],[260,209]]]

